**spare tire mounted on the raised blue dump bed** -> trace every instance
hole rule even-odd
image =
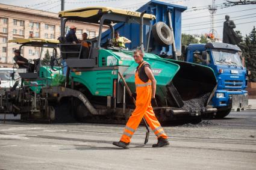
[[[173,37],[168,25],[164,22],[157,22],[152,28],[153,37],[163,46],[169,46],[173,43]]]

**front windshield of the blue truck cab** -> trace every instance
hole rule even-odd
[[[239,53],[234,50],[213,49],[216,64],[242,66]]]

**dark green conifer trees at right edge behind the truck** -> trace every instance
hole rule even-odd
[[[240,31],[236,31],[239,37],[242,37]],[[251,71],[249,76],[249,82],[256,82],[256,29],[255,26],[249,35],[243,39],[242,42],[238,44],[240,49],[242,49],[242,56],[245,57],[245,65],[248,70]]]

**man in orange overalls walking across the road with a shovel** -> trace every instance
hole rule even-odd
[[[123,135],[119,142],[113,142],[113,145],[122,148],[129,148],[131,137],[136,131],[137,127],[145,117],[146,122],[149,124],[155,135],[157,136],[157,144],[152,147],[163,147],[169,145],[167,135],[164,133],[163,127],[161,127],[159,121],[155,117],[152,105],[157,105],[155,101],[155,89],[157,81],[151,71],[148,62],[143,61],[144,53],[142,50],[134,51],[134,60],[139,64],[135,73],[135,85],[136,85],[136,108],[133,114],[126,123]],[[152,83],[152,85],[151,85]]]

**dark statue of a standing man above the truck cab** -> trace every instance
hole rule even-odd
[[[233,20],[229,20],[229,16],[225,16],[226,21],[224,22],[223,25],[223,43],[228,43],[228,44],[239,44],[242,40],[237,35],[237,33],[234,31],[234,28],[236,28],[235,23]]]

